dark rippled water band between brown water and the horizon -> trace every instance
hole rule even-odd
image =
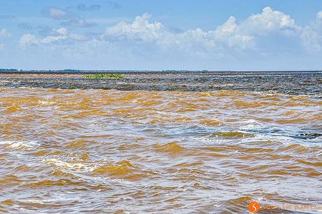
[[[160,90],[207,92],[213,90],[272,91],[321,97],[321,72],[154,72],[125,73],[123,79],[84,79],[82,74],[0,74],[0,87],[61,89]],[[50,77],[50,78],[48,78]]]

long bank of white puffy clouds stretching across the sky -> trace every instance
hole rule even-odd
[[[107,27],[95,38],[71,34],[66,28],[61,28],[50,31],[50,35],[44,35],[42,38],[25,34],[20,39],[20,44],[23,48],[27,48],[30,45],[66,45],[84,41],[88,45],[93,41],[95,44],[108,44],[104,46],[107,48],[113,46],[114,50],[127,47],[137,52],[146,48],[148,51],[162,52],[166,55],[176,52],[178,55],[210,59],[214,56],[231,55],[234,52],[258,51],[262,54],[262,52],[271,51],[269,49],[271,45],[264,48],[260,46],[262,41],[269,40],[270,44],[279,46],[281,41],[289,40],[298,43],[299,46],[302,45],[308,51],[321,52],[322,18],[320,16],[321,12],[318,12],[314,22],[300,27],[290,15],[265,7],[260,13],[250,15],[245,20],[239,21],[236,17],[230,16],[223,24],[208,31],[200,28],[174,31],[161,22],[153,22],[151,15],[144,13],[135,17],[132,22],[120,22]],[[67,20],[62,24],[71,27],[92,27],[96,23],[80,19]]]

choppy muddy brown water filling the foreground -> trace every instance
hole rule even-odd
[[[321,212],[321,106],[237,90],[0,88],[0,213]]]

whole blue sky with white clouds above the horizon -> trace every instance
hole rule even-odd
[[[0,68],[322,70],[322,1],[0,0]]]

